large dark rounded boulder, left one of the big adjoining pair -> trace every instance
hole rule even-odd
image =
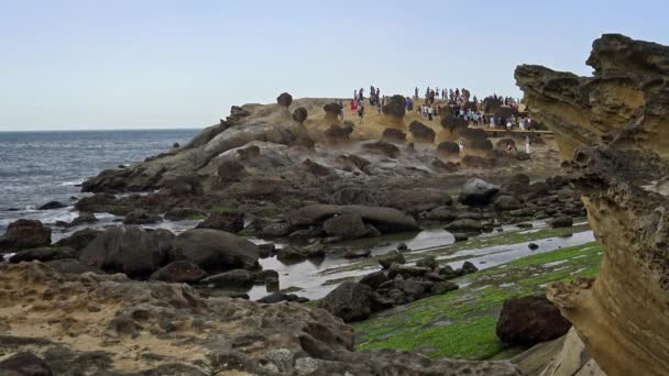
[[[109,228],[81,250],[79,261],[108,273],[149,277],[169,259],[173,241],[174,235],[167,230]]]

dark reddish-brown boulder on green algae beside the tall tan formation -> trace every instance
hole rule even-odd
[[[560,338],[570,328],[571,323],[546,297],[527,296],[504,301],[496,333],[506,344],[529,347]]]

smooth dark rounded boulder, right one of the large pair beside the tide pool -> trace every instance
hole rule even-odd
[[[176,236],[177,253],[197,264],[207,273],[235,268],[255,268],[259,258],[257,245],[229,232],[195,229]]]

